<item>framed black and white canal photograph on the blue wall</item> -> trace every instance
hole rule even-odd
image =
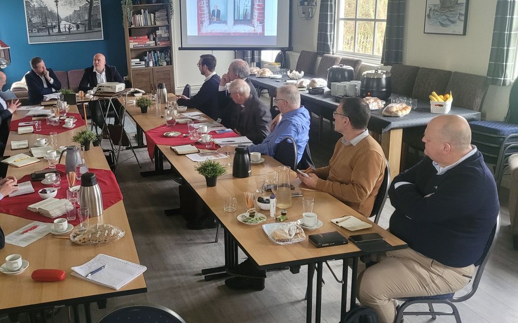
[[[103,39],[100,0],[24,0],[30,44]]]

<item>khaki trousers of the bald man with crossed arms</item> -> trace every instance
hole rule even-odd
[[[358,276],[358,299],[372,307],[380,323],[393,323],[397,301],[394,298],[433,296],[453,293],[466,286],[474,266],[445,266],[410,248],[383,253],[379,263]]]

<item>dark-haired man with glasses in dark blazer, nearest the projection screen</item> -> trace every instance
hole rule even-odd
[[[212,119],[218,119],[220,116],[218,109],[218,87],[221,78],[214,69],[216,68],[216,58],[210,54],[204,54],[199,57],[198,64],[199,72],[205,76],[202,87],[198,93],[188,98],[183,94],[177,95],[178,105],[185,105],[202,111]]]

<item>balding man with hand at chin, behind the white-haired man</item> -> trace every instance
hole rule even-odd
[[[220,107],[221,123],[227,128],[235,129],[237,127],[241,105],[231,100],[226,89],[226,84],[237,79],[243,80],[250,86],[250,95],[258,98],[257,90],[248,78],[249,75],[250,68],[248,63],[242,59],[234,59],[230,66],[228,66],[228,72],[221,76],[218,105]]]

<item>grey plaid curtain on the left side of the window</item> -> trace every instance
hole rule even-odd
[[[316,53],[333,54],[335,40],[334,0],[321,0],[319,13],[319,32],[316,37]]]

